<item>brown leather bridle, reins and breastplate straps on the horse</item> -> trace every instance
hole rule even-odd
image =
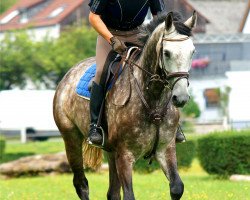
[[[163,41],[168,41],[168,42],[181,42],[181,41],[185,41],[189,39],[189,37],[184,37],[184,38],[180,38],[180,39],[173,39],[173,38],[162,38],[162,42]],[[155,124],[156,126],[156,135],[155,135],[155,141],[154,141],[154,145],[153,148],[151,149],[150,152],[148,152],[145,156],[144,159],[149,159],[149,164],[152,163],[153,158],[155,157],[156,154],[156,149],[159,143],[159,134],[160,134],[160,124],[163,120],[163,118],[165,117],[168,107],[169,107],[169,103],[172,99],[172,93],[173,93],[173,88],[176,85],[176,83],[185,78],[188,81],[189,78],[189,73],[188,72],[169,72],[167,71],[164,67],[162,69],[162,71],[164,72],[164,78],[162,79],[161,76],[159,74],[152,74],[151,72],[149,72],[148,70],[144,69],[143,67],[141,67],[140,65],[135,63],[135,59],[137,58],[137,56],[141,53],[141,49],[137,48],[129,58],[125,58],[124,62],[129,66],[130,68],[130,72],[133,76],[134,79],[134,83],[135,83],[135,89],[137,91],[137,94],[139,95],[142,103],[144,104],[145,108],[147,109],[147,112],[149,114],[149,119],[152,121],[153,124]],[[158,58],[160,59],[160,58]],[[163,57],[162,57],[163,59]],[[136,66],[137,68],[139,68],[141,71],[145,72],[148,76],[149,76],[149,83],[150,82],[161,82],[164,87],[168,87],[170,89],[170,96],[167,99],[167,101],[163,104],[163,106],[157,106],[156,108],[151,108],[150,105],[148,104],[148,102],[146,101],[142,89],[138,83],[138,80],[136,79],[135,75],[134,75],[134,70],[133,70],[133,66]],[[172,84],[170,84],[170,80],[173,78],[177,78]],[[189,84],[189,83],[188,83]]]

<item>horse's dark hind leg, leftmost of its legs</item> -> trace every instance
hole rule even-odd
[[[64,139],[67,158],[71,166],[71,169],[74,173],[73,184],[76,193],[81,200],[88,200],[89,199],[88,180],[85,177],[83,171],[83,157],[82,157],[83,135],[77,128],[75,128],[70,132],[61,132],[61,134]]]

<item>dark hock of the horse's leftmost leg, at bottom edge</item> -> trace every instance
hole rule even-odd
[[[78,197],[81,200],[89,200],[89,186],[86,177],[79,177],[74,175],[73,184]]]

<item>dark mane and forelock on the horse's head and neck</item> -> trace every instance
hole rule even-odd
[[[150,36],[152,35],[152,33],[156,29],[156,27],[165,21],[167,15],[168,15],[167,12],[162,12],[161,14],[157,15],[157,17],[154,18],[149,24],[141,27],[142,34],[141,34],[140,40],[144,44],[150,38]],[[192,35],[192,33],[191,33],[192,30],[184,24],[180,13],[173,12],[173,23],[174,23],[176,31],[179,34],[186,35],[186,36]]]

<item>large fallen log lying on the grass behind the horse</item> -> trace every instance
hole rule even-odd
[[[70,172],[65,153],[35,155],[0,165],[0,174],[7,177]]]

